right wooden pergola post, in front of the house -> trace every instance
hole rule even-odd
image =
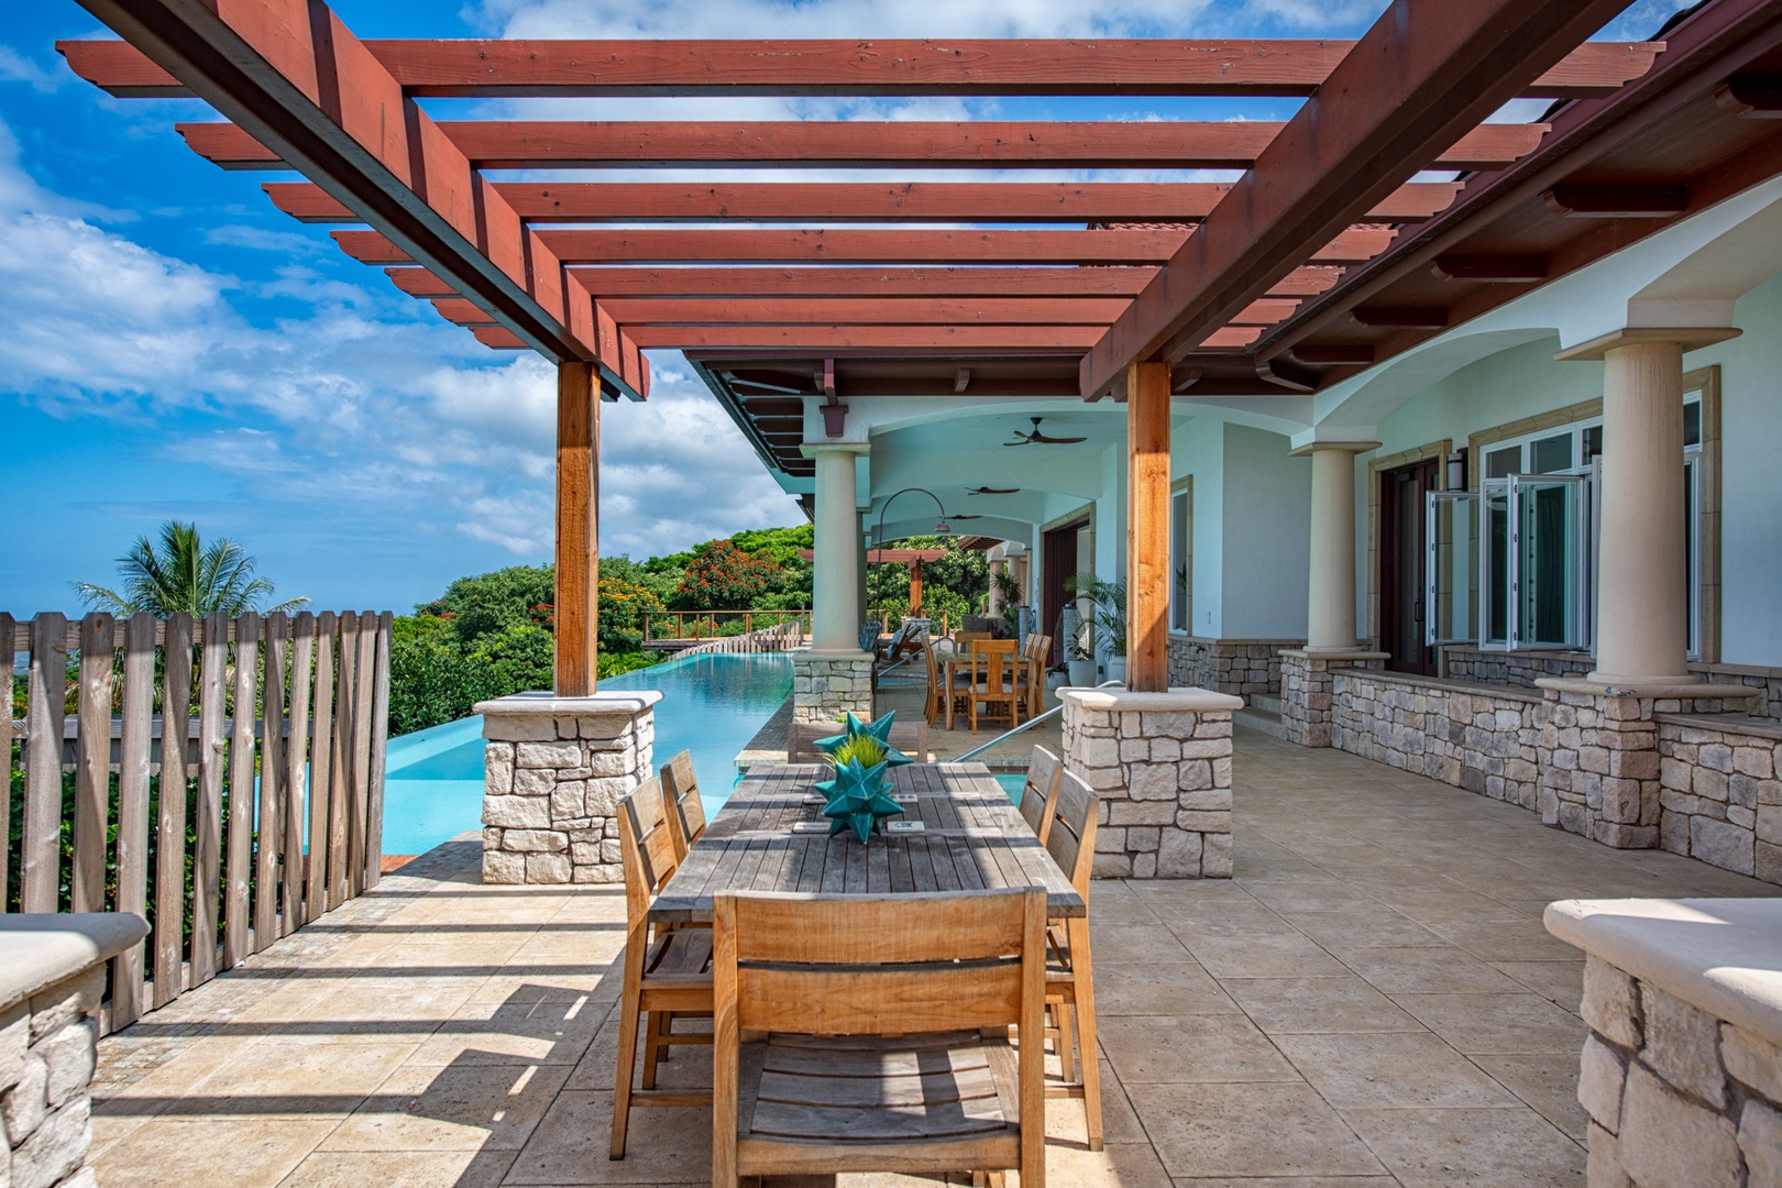
[[[1126,688],[1169,689],[1169,365],[1126,372]]]

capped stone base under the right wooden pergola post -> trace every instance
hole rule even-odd
[[[1231,878],[1231,711],[1210,689],[1059,689],[1064,766],[1101,796],[1098,878]]]

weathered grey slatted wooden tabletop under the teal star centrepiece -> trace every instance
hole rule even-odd
[[[693,842],[650,907],[659,924],[711,921],[723,891],[920,894],[1044,887],[1051,917],[1083,917],[1083,898],[1034,837],[984,764],[934,762],[891,769],[902,821],[868,844],[829,835],[822,764],[756,764]],[[898,821],[900,818],[889,818]]]

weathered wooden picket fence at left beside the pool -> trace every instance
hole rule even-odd
[[[378,883],[390,625],[0,614],[0,664],[29,657],[23,716],[0,716],[0,912],[148,915],[107,1029]]]

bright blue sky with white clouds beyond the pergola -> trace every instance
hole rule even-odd
[[[1431,0],[1435,2],[1435,0]],[[529,37],[1356,36],[1381,0],[339,0],[356,34]],[[1638,0],[1606,36],[1679,4]],[[552,378],[494,353],[185,150],[198,102],[110,100],[52,45],[73,0],[0,0],[0,609],[78,611],[71,581],[168,518],[260,557],[280,597],[424,602],[551,554]],[[538,118],[1287,118],[1292,102],[779,98],[429,105]],[[650,175],[668,180],[674,175]],[[713,178],[706,173],[700,176]],[[757,175],[759,176],[759,175]],[[855,175],[859,176],[859,175]],[[798,511],[674,353],[602,422],[602,552],[672,552]]]

